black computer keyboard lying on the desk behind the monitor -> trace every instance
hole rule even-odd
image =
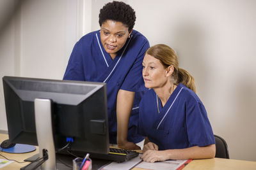
[[[91,158],[111,160],[118,163],[138,157],[138,155],[139,153],[133,150],[124,150],[120,148],[109,148],[108,154],[90,153]]]

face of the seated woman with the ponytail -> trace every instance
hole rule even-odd
[[[168,68],[164,68],[160,60],[145,54],[142,62],[142,76],[145,82],[145,87],[150,89],[158,89],[164,87],[170,81],[170,73]]]

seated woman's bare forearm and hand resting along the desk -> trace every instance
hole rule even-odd
[[[193,146],[184,149],[175,150],[147,150],[141,156],[145,162],[164,161],[168,159],[209,159],[214,158],[216,152],[215,145],[208,146]]]

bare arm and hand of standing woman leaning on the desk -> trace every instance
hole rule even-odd
[[[140,149],[140,146],[127,141],[129,118],[131,115],[134,92],[120,89],[116,98],[117,145],[119,148]]]

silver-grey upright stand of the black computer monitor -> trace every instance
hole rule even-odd
[[[54,139],[52,134],[52,102],[50,99],[35,99],[36,138],[39,157],[48,159],[41,165],[42,170],[56,170]]]

